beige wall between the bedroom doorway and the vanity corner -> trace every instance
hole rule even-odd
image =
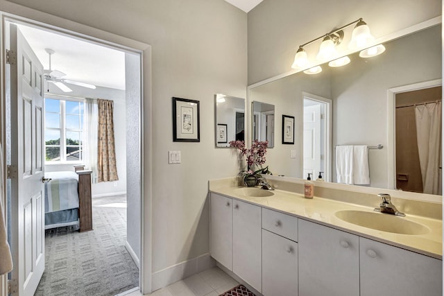
[[[152,76],[152,89],[145,90],[152,102],[145,103],[151,109],[146,117],[151,116],[153,134],[146,142],[153,147],[153,161],[144,166],[153,175],[152,199],[145,200],[153,212],[146,225],[152,232],[152,271],[207,254],[207,180],[237,174],[232,150],[214,145],[214,94],[246,97],[246,13],[223,0],[1,2],[2,7],[18,3],[152,46],[152,73],[144,73]],[[199,143],[173,142],[173,96],[200,101]],[[168,150],[182,151],[182,164],[169,165]]]

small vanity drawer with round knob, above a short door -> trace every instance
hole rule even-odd
[[[262,228],[298,241],[298,218],[262,208]]]

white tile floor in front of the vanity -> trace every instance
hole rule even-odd
[[[176,281],[165,288],[157,290],[149,295],[152,296],[218,296],[239,285],[237,281],[214,267],[196,275]],[[126,294],[125,296],[141,296],[139,290]]]

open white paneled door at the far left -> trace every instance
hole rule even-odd
[[[10,24],[11,249],[17,294],[34,295],[44,271],[43,66]],[[8,94],[7,94],[8,96]]]

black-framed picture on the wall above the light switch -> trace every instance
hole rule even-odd
[[[173,141],[200,141],[199,121],[199,101],[173,97]]]

